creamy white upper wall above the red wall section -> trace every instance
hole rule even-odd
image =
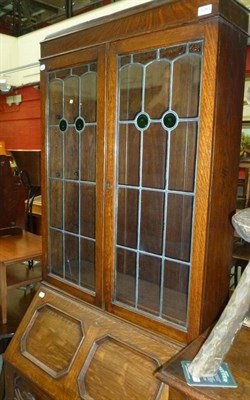
[[[48,35],[150,1],[121,0],[18,38],[0,34],[0,74],[8,75],[12,86],[39,82],[40,42]]]

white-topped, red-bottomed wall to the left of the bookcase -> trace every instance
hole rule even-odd
[[[0,73],[8,75],[10,84],[18,87],[15,91],[23,96],[19,106],[11,107],[6,95],[0,96],[0,140],[7,149],[41,148],[40,93],[33,88],[40,81],[40,42],[55,32],[149,1],[119,1],[18,38],[0,34]]]

